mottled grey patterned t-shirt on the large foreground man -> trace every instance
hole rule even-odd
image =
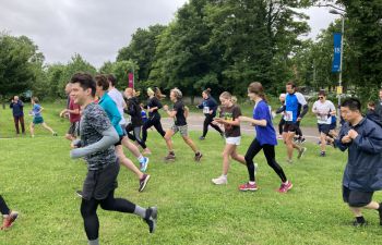
[[[89,103],[82,113],[80,123],[81,145],[88,146],[103,138],[102,133],[111,126],[110,120],[99,105]],[[88,170],[103,169],[105,166],[116,162],[115,147],[98,150],[85,156]]]

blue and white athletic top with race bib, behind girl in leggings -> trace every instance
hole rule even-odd
[[[301,93],[287,94],[285,98],[284,120],[286,122],[296,123],[299,115],[299,105],[303,107],[307,100]]]

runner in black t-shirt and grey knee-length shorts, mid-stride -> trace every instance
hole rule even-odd
[[[189,136],[188,133],[188,125],[186,118],[188,115],[188,110],[184,107],[182,99],[182,93],[178,88],[174,88],[170,91],[170,99],[174,102],[174,108],[170,111],[168,109],[168,106],[164,106],[164,110],[168,114],[168,117],[174,118],[174,125],[171,128],[169,128],[166,132],[165,140],[168,148],[168,155],[165,157],[166,161],[175,160],[175,152],[172,147],[172,140],[171,137],[179,131],[180,135],[182,136],[184,143],[190,146],[190,148],[195,154],[194,160],[200,161],[203,155],[198,150],[195,144],[192,142],[192,139]]]

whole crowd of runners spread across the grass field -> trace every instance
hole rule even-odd
[[[176,161],[172,136],[179,132],[186,145],[193,151],[193,159],[200,163],[204,154],[189,135],[188,115],[189,108],[183,102],[182,91],[172,88],[169,99],[172,107],[163,105],[164,96],[158,87],[147,88],[147,101],[139,101],[139,93],[133,88],[126,88],[120,93],[117,88],[117,79],[114,75],[96,75],[87,73],[73,75],[65,87],[68,95],[67,108],[60,113],[68,118],[70,126],[65,138],[70,140],[71,158],[84,158],[87,163],[87,174],[82,189],[76,194],[81,196],[81,215],[84,220],[84,229],[88,244],[98,244],[99,221],[97,207],[105,210],[133,213],[143,219],[148,225],[150,232],[154,232],[157,220],[157,208],[143,208],[123,198],[115,197],[117,176],[120,166],[132,171],[138,179],[139,192],[143,192],[152,177],[148,171],[150,156],[154,143],[147,140],[147,130],[155,127],[164,138],[167,146],[167,155],[164,160]],[[343,179],[343,198],[354,212],[354,224],[365,225],[361,209],[378,210],[382,225],[382,205],[372,200],[373,193],[382,189],[382,90],[380,100],[368,103],[366,115],[361,113],[361,103],[356,98],[345,99],[342,105],[335,107],[326,98],[324,90],[319,91],[318,100],[311,107],[317,115],[320,135],[320,157],[326,157],[326,147],[332,145],[339,150],[348,150],[348,162]],[[286,93],[279,96],[280,107],[272,111],[265,90],[261,83],[253,82],[248,86],[248,97],[254,102],[253,114],[242,115],[240,106],[235,96],[228,91],[219,95],[219,102],[212,97],[211,89],[202,93],[203,101],[196,106],[203,110],[205,120],[200,140],[207,140],[208,126],[213,127],[225,140],[222,150],[222,174],[212,179],[215,185],[228,183],[230,159],[247,167],[248,181],[238,186],[239,191],[256,191],[256,167],[254,157],[263,150],[267,164],[274,170],[280,180],[277,192],[284,194],[293,188],[289,174],[285,173],[276,160],[275,147],[277,138],[286,146],[288,163],[294,162],[294,150],[297,150],[297,159],[303,157],[307,151],[305,137],[300,123],[309,111],[305,97],[297,91],[293,82],[286,84]],[[44,128],[57,133],[49,127],[41,115],[44,108],[38,98],[32,98],[33,117],[31,135],[34,137],[34,128],[41,124]],[[10,107],[13,110],[16,133],[25,133],[23,119],[23,102],[14,97]],[[337,114],[337,109],[341,113]],[[174,119],[174,124],[165,131],[160,121],[160,110]],[[273,126],[274,114],[280,113],[277,132]],[[124,117],[128,114],[129,117]],[[339,126],[337,126],[337,122]],[[255,137],[244,156],[238,154],[241,144],[240,125],[248,123],[253,125]],[[339,130],[337,130],[339,127]],[[278,135],[277,135],[278,133]],[[136,158],[130,159],[123,152],[123,147]],[[141,148],[141,149],[140,149]],[[184,149],[184,148],[182,148]],[[141,152],[142,151],[142,152]],[[11,211],[0,196],[0,211],[4,216],[1,229],[8,229],[17,218],[16,211]]]

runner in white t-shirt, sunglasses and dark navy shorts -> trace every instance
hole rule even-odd
[[[313,103],[312,112],[317,115],[317,125],[320,133],[320,157],[325,157],[326,136],[332,130],[332,117],[336,114],[336,110],[333,102],[326,99],[326,94],[324,90],[319,91],[319,100]]]

